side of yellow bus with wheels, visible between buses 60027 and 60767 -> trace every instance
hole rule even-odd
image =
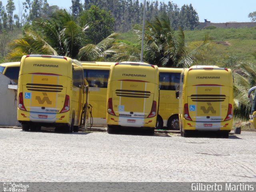
[[[176,98],[176,88],[183,68],[159,67],[158,70],[160,95],[156,129],[167,127],[169,130],[179,130],[179,100]]]

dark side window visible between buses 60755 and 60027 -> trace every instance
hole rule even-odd
[[[88,70],[84,69],[84,78],[89,83],[89,87],[107,88],[109,70]]]

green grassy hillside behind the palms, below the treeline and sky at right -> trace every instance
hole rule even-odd
[[[184,31],[189,48],[195,48],[208,35],[210,44],[202,52],[201,64],[227,66],[239,62],[255,63],[256,27],[253,28],[215,28]],[[121,34],[121,39],[137,43],[134,33]]]

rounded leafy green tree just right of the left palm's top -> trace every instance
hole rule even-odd
[[[93,44],[98,44],[113,32],[115,20],[106,10],[101,10],[93,5],[89,10],[83,12],[82,17],[90,26],[88,37]]]

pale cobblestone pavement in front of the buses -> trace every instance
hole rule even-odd
[[[2,182],[256,182],[256,132],[182,138],[0,129]]]

